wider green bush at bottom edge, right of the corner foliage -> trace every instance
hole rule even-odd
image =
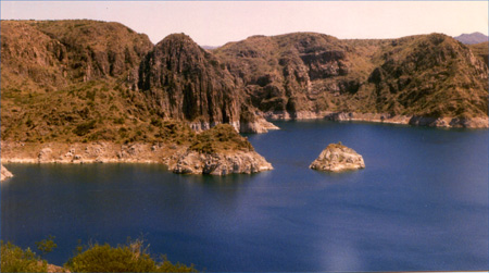
[[[165,257],[156,262],[143,247],[142,240],[117,247],[95,244],[78,251],[65,264],[72,272],[197,272],[193,266],[173,264]]]

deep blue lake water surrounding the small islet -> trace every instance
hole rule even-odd
[[[212,271],[488,270],[488,131],[313,122],[249,135],[275,167],[176,175],[149,164],[7,164],[1,238],[78,244],[142,235],[152,253]],[[366,169],[310,170],[342,141]]]

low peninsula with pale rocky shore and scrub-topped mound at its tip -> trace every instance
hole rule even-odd
[[[195,133],[189,126],[176,127],[175,123],[168,123],[166,126],[174,128],[172,137],[151,144],[2,141],[2,161],[161,163],[175,173],[212,175],[250,174],[273,170],[272,164],[254,151],[251,144],[229,124],[220,124],[200,133]],[[2,177],[3,170],[2,166]]]

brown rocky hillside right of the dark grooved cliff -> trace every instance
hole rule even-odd
[[[441,34],[394,40],[253,36],[213,52],[271,117],[356,112],[487,119],[487,65]]]

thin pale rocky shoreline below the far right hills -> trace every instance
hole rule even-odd
[[[337,122],[372,122],[387,124],[403,124],[414,126],[428,126],[439,128],[489,128],[489,117],[429,117],[418,115],[392,115],[386,113],[356,113],[356,112],[312,112],[299,111],[292,114],[285,111],[267,112],[264,114],[271,121],[290,120],[319,120],[325,119]]]

